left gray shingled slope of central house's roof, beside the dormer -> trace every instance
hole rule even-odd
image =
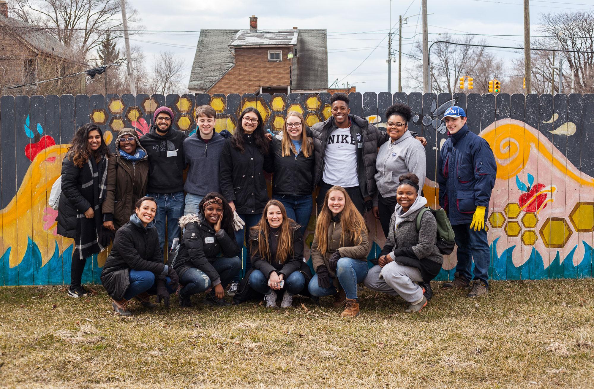
[[[189,90],[206,91],[235,65],[235,50],[229,42],[239,30],[200,30]]]

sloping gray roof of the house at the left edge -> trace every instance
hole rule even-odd
[[[25,42],[29,43],[37,52],[72,59],[71,50],[44,31],[43,28],[25,23],[22,20],[6,18],[2,15],[0,15],[0,25],[9,27],[9,32],[11,34],[14,34],[15,37],[23,39]]]

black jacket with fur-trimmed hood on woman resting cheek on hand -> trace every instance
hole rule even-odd
[[[211,262],[214,262],[221,253],[227,258],[235,256],[237,253],[235,235],[229,236],[222,228],[218,233],[215,233],[214,228],[204,220],[202,213],[182,216],[179,218],[179,227],[185,228],[185,231],[178,256],[175,258],[175,263],[172,264],[179,279],[182,278],[186,270],[195,267],[206,273],[212,286],[219,285],[219,273]]]

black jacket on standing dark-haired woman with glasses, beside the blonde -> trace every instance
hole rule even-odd
[[[233,148],[233,138],[225,139],[221,151],[219,180],[221,194],[235,204],[237,213],[257,214],[268,202],[264,172],[272,173],[272,158],[261,154],[254,136],[244,134],[244,151]]]

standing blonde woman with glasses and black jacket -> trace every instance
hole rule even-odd
[[[272,198],[285,206],[287,217],[301,225],[301,234],[311,218],[314,191],[314,142],[306,133],[301,113],[290,111],[285,126],[272,139],[274,176]]]

